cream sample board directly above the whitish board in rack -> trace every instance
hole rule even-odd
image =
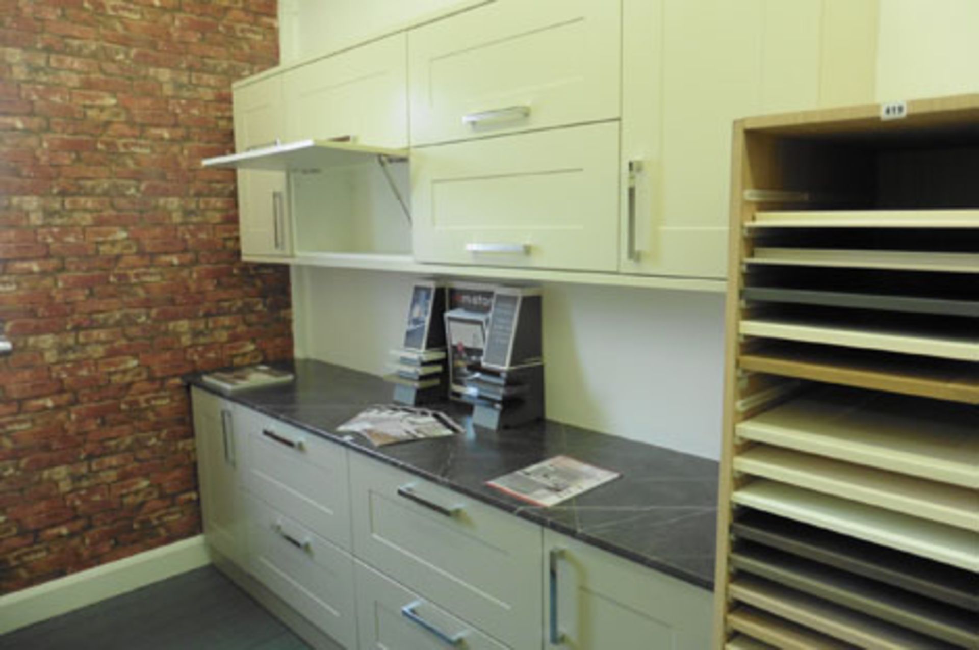
[[[979,493],[974,489],[768,444],[735,457],[734,470],[979,533]]]

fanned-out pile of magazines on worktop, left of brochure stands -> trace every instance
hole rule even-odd
[[[396,442],[444,438],[463,428],[440,411],[413,406],[371,406],[337,427],[342,433],[360,434],[374,446]]]

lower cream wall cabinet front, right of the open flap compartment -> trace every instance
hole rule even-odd
[[[618,122],[417,149],[415,258],[614,271],[618,158]]]

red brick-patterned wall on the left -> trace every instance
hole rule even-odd
[[[0,592],[199,533],[179,376],[292,353],[200,167],[277,59],[275,0],[0,0]]]

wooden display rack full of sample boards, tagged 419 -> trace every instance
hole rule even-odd
[[[977,179],[979,95],[736,123],[716,648],[979,648]]]

